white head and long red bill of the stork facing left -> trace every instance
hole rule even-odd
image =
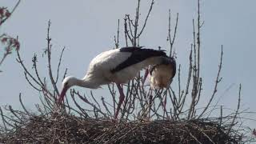
[[[66,94],[66,91],[69,90],[71,86],[76,85],[77,83],[77,78],[74,78],[73,76],[68,76],[64,78],[62,82],[62,92],[58,97],[58,104],[64,100],[64,96]]]

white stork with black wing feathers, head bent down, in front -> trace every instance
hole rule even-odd
[[[170,58],[162,50],[123,47],[102,52],[90,62],[84,78],[78,79],[69,76],[63,80],[58,103],[64,100],[66,91],[71,86],[97,89],[102,85],[114,82],[120,93],[118,107],[115,112],[115,118],[117,118],[120,106],[125,98],[121,84],[133,79],[143,68],[168,62],[170,62]]]

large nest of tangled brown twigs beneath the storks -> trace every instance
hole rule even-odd
[[[216,119],[217,120],[217,119]],[[53,114],[33,116],[2,134],[3,143],[238,143],[240,138],[217,121],[140,120],[113,122]]]

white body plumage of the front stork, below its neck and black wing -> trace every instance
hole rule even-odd
[[[142,70],[150,64],[161,62],[162,57],[146,58],[142,62],[138,62],[132,66],[128,66],[123,70],[111,73],[116,66],[126,61],[131,55],[130,52],[120,52],[118,49],[109,50],[98,54],[91,62],[86,73],[85,79],[92,85],[104,85],[110,82],[126,83],[134,78],[138,71]]]

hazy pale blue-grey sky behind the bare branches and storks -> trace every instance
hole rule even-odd
[[[15,0],[1,0],[0,6],[12,8]],[[238,85],[242,83],[242,109],[256,111],[256,74],[254,54],[256,34],[256,1],[254,0],[214,0],[202,2],[202,106],[209,100],[214,89],[214,79],[218,70],[221,45],[224,46],[222,83],[218,87],[219,105],[235,109],[238,101]],[[53,62],[57,65],[61,48],[66,46],[63,70],[68,74],[82,78],[86,73],[90,59],[104,50],[114,47],[118,18],[123,26],[125,14],[134,15],[136,0],[24,0],[14,15],[0,27],[0,33],[18,35],[21,42],[22,58],[28,67],[34,53],[39,56],[39,70],[47,74],[45,59],[41,57],[46,47],[46,26],[50,19],[51,37],[54,45]],[[142,19],[144,20],[150,1],[142,1]],[[178,33],[174,48],[177,62],[182,64],[182,79],[186,79],[186,66],[192,37],[192,19],[196,18],[196,0],[162,0],[154,4],[146,31],[140,39],[141,46],[157,48],[168,47],[166,42],[168,10],[171,10],[172,22],[179,13]],[[123,29],[121,28],[121,32]],[[121,46],[124,45],[121,34]],[[2,57],[2,50],[0,56]],[[11,104],[18,107],[18,94],[21,92],[26,106],[38,102],[38,94],[31,90],[26,82],[21,66],[13,54],[1,66],[0,105]],[[184,71],[185,70],[185,71]],[[184,77],[185,76],[185,77]],[[177,78],[174,84],[177,85]],[[61,85],[59,84],[59,87]],[[89,90],[83,89],[85,93]],[[96,93],[102,94],[102,90]],[[216,99],[217,99],[216,98]],[[255,118],[255,115],[247,115]],[[255,122],[254,127],[256,126]]]

